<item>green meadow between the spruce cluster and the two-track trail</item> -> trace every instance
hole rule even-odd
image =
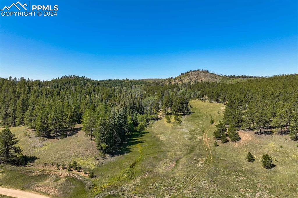
[[[210,126],[209,114],[218,122],[223,110],[222,105],[216,103],[192,101],[191,105],[193,113],[181,117],[181,125],[173,119],[167,123],[162,118],[151,124],[146,132],[132,135],[129,145],[124,146],[126,154],[95,169],[97,178],[94,181],[99,187],[94,190],[106,187],[97,191],[103,197],[175,194],[204,167],[207,155],[202,130]],[[138,146],[142,147],[142,158],[139,158]],[[121,175],[127,169],[129,174],[124,174],[127,176],[123,178]]]

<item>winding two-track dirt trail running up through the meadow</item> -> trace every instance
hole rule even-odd
[[[214,122],[213,125],[215,125],[215,122]],[[210,129],[213,125],[210,125],[208,127],[209,129],[203,135],[204,146],[206,148],[206,153],[207,153],[207,159],[206,159],[206,163],[204,164],[204,167],[191,180],[189,180],[184,186],[179,188],[177,190],[177,194],[173,195],[172,197],[179,196],[184,190],[186,190],[187,188],[192,186],[196,181],[198,181],[204,175],[204,173],[209,169],[210,164],[212,162],[212,153],[211,153],[210,146],[209,146],[209,143],[208,143],[208,136],[207,135],[208,135],[208,132],[210,131]]]

